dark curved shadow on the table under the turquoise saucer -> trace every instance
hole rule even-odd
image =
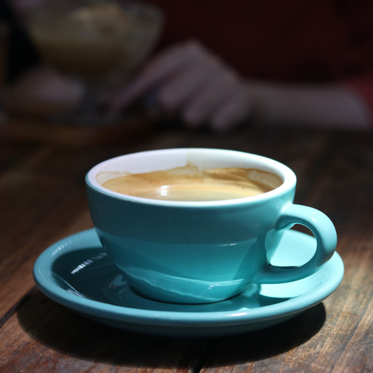
[[[266,329],[216,339],[186,340],[106,327],[51,301],[39,291],[17,311],[22,329],[48,348],[28,348],[30,361],[35,364],[53,358],[57,369],[63,366],[67,354],[97,364],[185,368],[192,372],[199,372],[203,366],[242,364],[285,353],[316,335],[325,317],[325,308],[319,303]],[[22,348],[18,345],[22,342],[15,341],[14,348]]]

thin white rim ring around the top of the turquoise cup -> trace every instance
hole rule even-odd
[[[155,157],[159,155],[176,155],[180,153],[183,154],[193,154],[198,152],[205,152],[209,154],[220,154],[225,156],[236,156],[236,157],[242,157],[242,159],[247,160],[248,162],[254,162],[256,164],[262,164],[265,165],[263,168],[257,167],[259,169],[264,169],[267,171],[270,171],[272,173],[275,173],[275,175],[278,175],[283,183],[278,188],[273,189],[272,191],[255,195],[252,197],[245,197],[245,198],[237,198],[233,200],[222,200],[222,201],[168,201],[168,200],[152,200],[149,198],[142,198],[142,197],[134,197],[131,195],[125,195],[117,192],[113,192],[110,189],[106,189],[103,186],[101,186],[97,182],[97,175],[100,172],[111,172],[110,170],[110,164],[118,163],[122,160],[130,160],[131,157]],[[198,165],[197,165],[198,166]],[[219,167],[219,166],[216,166]],[[233,167],[233,166],[231,166]],[[173,168],[169,167],[168,169]],[[162,170],[167,168],[160,168]],[[105,171],[103,171],[105,170]],[[152,171],[155,171],[157,169],[153,169]],[[125,170],[123,170],[125,171]],[[146,171],[151,172],[151,171]],[[120,200],[124,201],[130,201],[130,202],[136,202],[141,204],[147,204],[147,205],[154,205],[154,206],[164,206],[164,207],[219,207],[219,206],[237,206],[241,204],[256,204],[258,202],[267,201],[276,197],[279,197],[280,195],[284,194],[285,192],[289,191],[291,188],[295,187],[295,184],[297,182],[297,178],[295,176],[295,173],[285,164],[282,164],[276,160],[259,156],[257,154],[251,154],[251,153],[245,153],[241,151],[235,151],[235,150],[223,150],[223,149],[213,149],[213,148],[172,148],[172,149],[162,149],[162,150],[149,150],[149,151],[141,151],[137,153],[130,153],[125,154],[122,156],[114,157],[111,159],[108,159],[106,161],[103,161],[101,163],[98,163],[96,166],[94,166],[90,171],[88,171],[86,176],[86,183],[91,188],[95,189],[98,192],[101,192],[107,196],[118,198]]]

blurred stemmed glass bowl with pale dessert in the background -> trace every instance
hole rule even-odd
[[[105,94],[149,55],[162,24],[156,7],[114,0],[48,0],[26,20],[46,62],[84,88],[77,114],[83,122],[97,120],[96,109]]]

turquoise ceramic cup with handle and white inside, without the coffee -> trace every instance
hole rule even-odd
[[[151,200],[101,186],[121,173],[186,164],[257,168],[275,173],[283,184],[254,197],[207,202]],[[218,149],[145,151],[98,164],[86,183],[93,224],[107,255],[132,288],[154,300],[213,303],[234,297],[250,283],[298,280],[319,269],[336,247],[330,219],[293,204],[294,172],[266,157]],[[297,223],[316,237],[314,256],[300,267],[272,266],[283,232]]]

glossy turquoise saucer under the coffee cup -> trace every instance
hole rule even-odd
[[[285,232],[272,264],[299,266],[310,259],[316,240]],[[313,275],[282,284],[252,284],[234,298],[210,304],[169,304],[134,292],[109,260],[94,229],[51,245],[34,265],[34,279],[47,297],[99,323],[157,336],[206,338],[263,329],[320,303],[342,281],[341,257]]]

